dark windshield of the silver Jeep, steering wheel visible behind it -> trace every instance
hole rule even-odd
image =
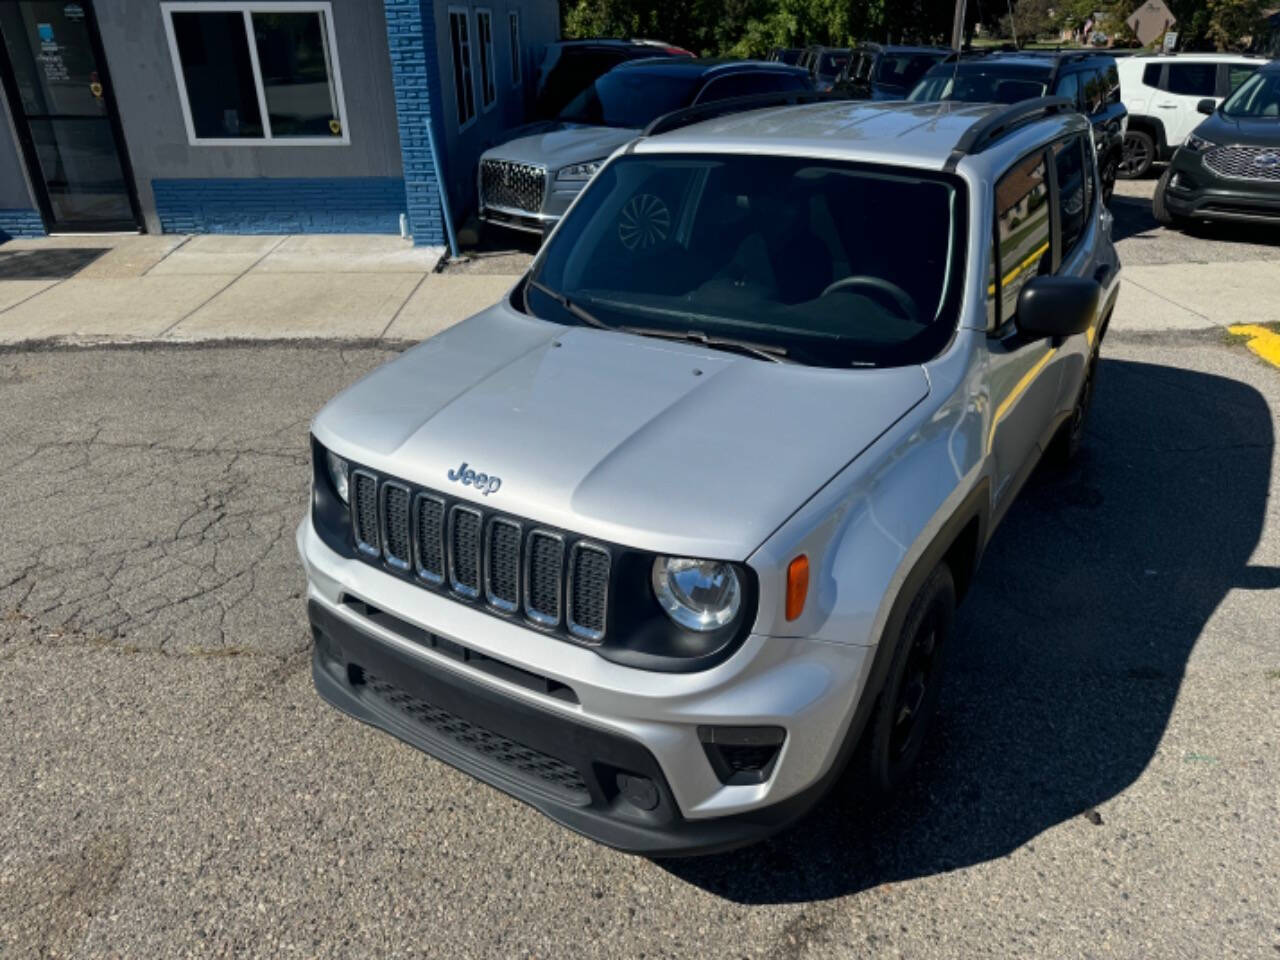
[[[526,303],[818,366],[923,362],[955,329],[961,191],[943,174],[805,157],[622,156],[539,255]]]

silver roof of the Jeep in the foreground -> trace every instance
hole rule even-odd
[[[719,116],[641,141],[646,150],[812,154],[942,169],[978,122],[1009,110],[997,104],[829,100]],[[1085,120],[1075,113],[1069,114]],[[1061,123],[1061,116],[1057,118]],[[1029,125],[1029,124],[1028,124]]]

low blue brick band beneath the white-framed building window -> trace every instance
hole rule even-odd
[[[315,177],[151,180],[165,233],[399,233],[404,180]]]

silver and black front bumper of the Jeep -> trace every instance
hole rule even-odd
[[[653,856],[742,846],[840,772],[873,648],[753,635],[708,671],[653,673],[346,559],[310,520],[297,540],[317,691],[594,840]],[[765,782],[730,785],[700,726],[782,727],[786,741]]]

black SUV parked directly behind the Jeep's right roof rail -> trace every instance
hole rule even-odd
[[[1128,111],[1120,101],[1120,74],[1110,54],[1089,50],[955,54],[924,74],[908,100],[960,100],[972,104],[1016,104],[1042,96],[1075,101],[1093,124],[1102,196],[1111,200],[1124,156]]]

